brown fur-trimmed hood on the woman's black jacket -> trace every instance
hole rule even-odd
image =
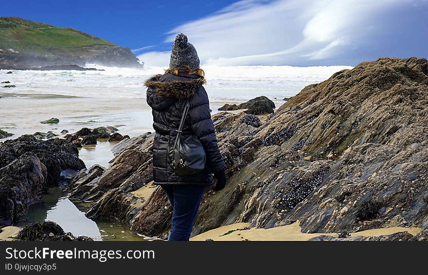
[[[203,77],[188,78],[189,80],[160,81],[163,74],[156,74],[144,82],[144,86],[151,88],[154,92],[166,96],[186,99],[192,97],[199,87],[205,84]]]

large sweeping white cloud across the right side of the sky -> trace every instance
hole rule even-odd
[[[174,28],[164,42],[186,34],[208,65],[349,64],[361,58],[359,48],[383,42],[376,37],[388,31],[385,20],[400,19],[391,11],[416,3],[426,8],[426,0],[244,0]],[[139,58],[168,66],[169,52]]]

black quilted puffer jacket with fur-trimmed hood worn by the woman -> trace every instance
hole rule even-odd
[[[224,171],[225,164],[217,146],[214,124],[211,120],[208,95],[199,75],[171,73],[158,74],[145,82],[147,103],[152,108],[153,128],[153,181],[155,184],[213,183],[212,173]],[[171,131],[178,129],[185,99],[191,98],[182,136],[196,135],[206,153],[205,169],[191,176],[178,176],[168,158],[168,140]]]

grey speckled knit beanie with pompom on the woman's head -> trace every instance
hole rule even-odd
[[[190,67],[191,71],[196,71],[199,68],[199,57],[195,47],[187,42],[187,37],[179,33],[172,45],[169,68],[171,70],[179,70],[186,65]]]

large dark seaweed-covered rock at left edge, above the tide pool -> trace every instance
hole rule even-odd
[[[24,135],[0,144],[0,224],[18,222],[48,187],[66,180],[63,171],[83,168],[77,148],[65,140]]]

